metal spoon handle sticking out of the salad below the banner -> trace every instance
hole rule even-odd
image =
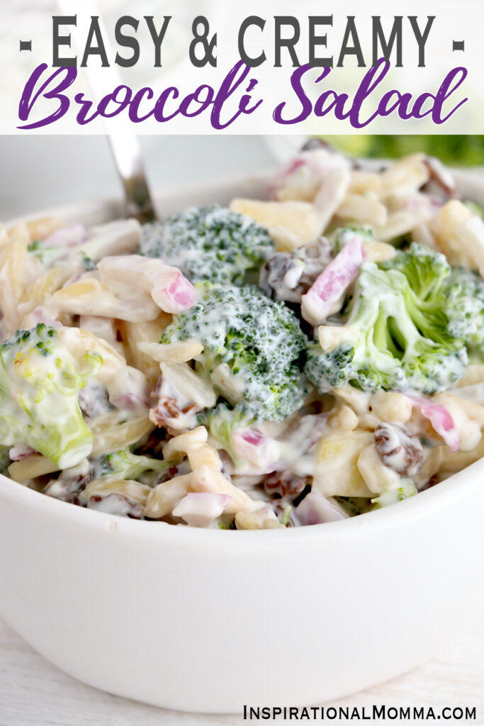
[[[141,146],[134,134],[109,134],[112,155],[123,182],[126,195],[126,213],[144,222],[157,219],[155,205],[149,192],[141,155]],[[158,217],[159,219],[159,217]]]

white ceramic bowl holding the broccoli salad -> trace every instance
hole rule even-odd
[[[261,185],[160,204],[224,203]],[[61,213],[94,224],[121,208]],[[0,477],[1,612],[62,670],[120,696],[205,712],[328,701],[482,621],[483,511],[484,460],[387,509],[284,531],[133,521]]]

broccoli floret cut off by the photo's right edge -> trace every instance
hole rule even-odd
[[[464,338],[469,362],[484,362],[484,280],[465,267],[452,270],[446,281],[448,330]]]

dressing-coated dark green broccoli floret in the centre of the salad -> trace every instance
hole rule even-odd
[[[197,369],[247,417],[280,421],[303,404],[300,356],[307,339],[284,303],[257,287],[198,283],[198,301],[176,315],[162,343],[196,340]]]

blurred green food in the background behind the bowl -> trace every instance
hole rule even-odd
[[[483,166],[484,136],[321,136],[353,156],[393,159],[426,152],[451,166]]]

